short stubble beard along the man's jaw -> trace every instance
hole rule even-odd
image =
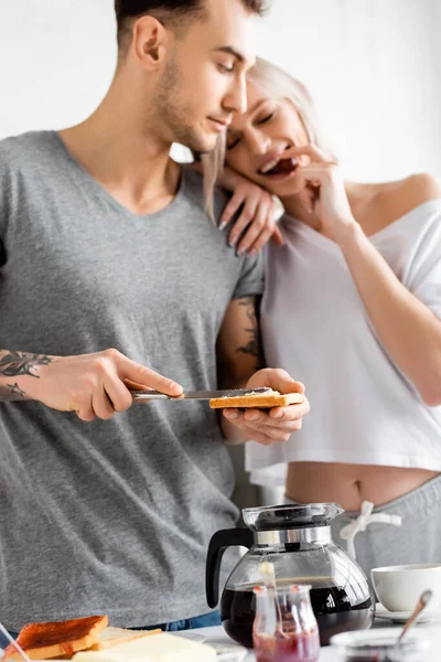
[[[159,85],[155,108],[157,117],[171,135],[173,142],[184,145],[195,152],[212,151],[215,147],[215,138],[212,140],[189,125],[191,108],[183,99],[187,98],[187,92],[183,89],[182,76],[175,57],[173,57],[164,72]]]

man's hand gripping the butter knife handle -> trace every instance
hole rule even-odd
[[[128,388],[153,388],[180,395],[180,384],[131,361],[117,350],[78,356],[51,356],[23,377],[26,396],[61,412],[76,412],[82,420],[111,418],[133,401]],[[37,378],[35,378],[37,377]],[[25,384],[24,384],[24,378]]]

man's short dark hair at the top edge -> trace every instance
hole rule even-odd
[[[262,14],[266,0],[240,0],[250,13]],[[185,26],[185,19],[204,15],[205,0],[115,0],[117,15],[118,47],[123,50],[131,34],[133,20],[154,15],[165,25]]]

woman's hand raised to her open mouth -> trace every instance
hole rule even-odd
[[[338,243],[345,231],[354,226],[355,220],[337,163],[315,145],[290,148],[283,152],[283,158],[298,161],[293,178],[297,195],[309,212],[316,214],[321,229]]]

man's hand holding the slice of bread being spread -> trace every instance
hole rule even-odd
[[[269,386],[280,393],[304,393],[304,386],[294,382],[284,370],[260,370],[255,373],[246,388]],[[248,440],[258,441],[263,446],[271,446],[278,441],[287,441],[292,433],[302,427],[303,416],[310,410],[310,405],[304,398],[300,405],[275,407],[272,409],[224,409],[224,416],[245,433]]]

